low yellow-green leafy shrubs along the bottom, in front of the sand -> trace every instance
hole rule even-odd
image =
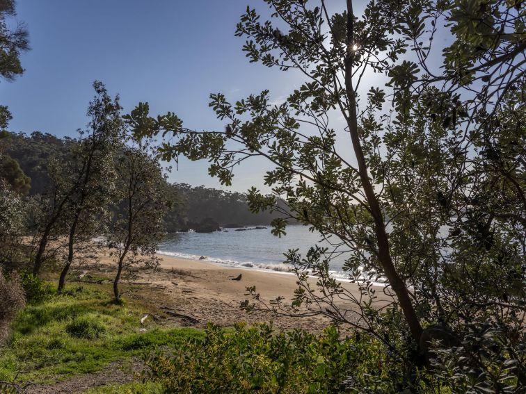
[[[209,325],[204,339],[151,352],[145,365],[145,380],[165,393],[450,393],[391,345],[367,334],[342,339],[333,326],[317,336]]]

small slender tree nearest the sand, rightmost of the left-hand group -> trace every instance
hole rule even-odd
[[[117,260],[113,294],[118,302],[123,272],[139,265],[157,267],[157,247],[164,236],[164,215],[170,204],[159,157],[149,152],[148,144],[126,147],[116,167],[122,200],[114,210],[108,245]]]

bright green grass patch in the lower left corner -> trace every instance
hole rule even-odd
[[[0,347],[0,380],[53,383],[203,335],[198,329],[166,329],[151,319],[141,326],[147,310],[133,300],[125,306],[113,304],[110,289],[100,285],[70,286],[42,304],[26,306],[15,320],[13,338]],[[143,385],[140,391],[134,384],[127,386],[124,391],[113,387],[90,393],[157,392],[154,385]]]

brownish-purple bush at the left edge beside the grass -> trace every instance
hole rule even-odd
[[[0,344],[8,337],[11,322],[24,305],[24,289],[19,276],[13,273],[8,279],[0,270]]]

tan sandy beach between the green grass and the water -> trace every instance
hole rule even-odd
[[[235,322],[273,321],[274,327],[281,329],[303,328],[310,331],[321,331],[330,325],[330,319],[324,315],[309,317],[277,316],[273,313],[255,311],[247,313],[239,304],[248,299],[248,286],[256,286],[261,299],[269,302],[278,296],[285,297],[290,304],[294,290],[298,287],[294,274],[258,271],[254,269],[229,268],[204,261],[186,260],[159,255],[159,270],[139,270],[133,279],[123,279],[120,285],[124,297],[143,299],[145,304],[156,308],[149,311],[155,320],[163,320],[166,325],[206,327],[212,322],[220,327],[232,327]],[[115,263],[108,256],[102,256],[106,272],[114,272]],[[240,281],[233,277],[242,275]],[[315,285],[316,279],[310,279]],[[360,297],[356,284],[342,284],[346,290]],[[383,288],[376,288],[378,306],[384,306],[390,300],[383,293]],[[357,322],[358,307],[346,301],[337,300],[341,311],[346,310],[346,317]],[[150,307],[150,309],[152,309]]]

